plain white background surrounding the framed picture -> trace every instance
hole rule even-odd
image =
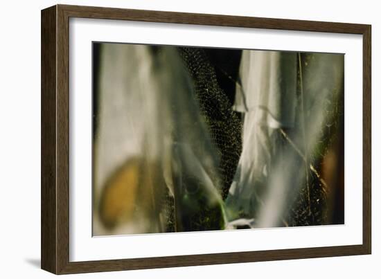
[[[55,1],[3,1],[0,17],[0,276],[53,278],[39,269],[40,253],[40,10]],[[381,19],[378,1],[142,1],[86,0],[61,3],[223,15],[311,19],[372,24],[373,255],[181,267],[74,278],[380,278]]]

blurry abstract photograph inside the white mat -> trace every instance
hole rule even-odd
[[[92,48],[94,236],[344,224],[344,54]]]

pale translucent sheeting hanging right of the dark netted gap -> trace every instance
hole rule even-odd
[[[231,226],[285,225],[309,183],[308,154],[328,123],[327,102],[342,96],[343,79],[344,55],[243,51],[234,105],[244,114],[243,147],[226,201]]]

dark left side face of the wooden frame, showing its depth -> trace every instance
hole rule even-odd
[[[41,15],[41,267],[56,273],[56,7]]]

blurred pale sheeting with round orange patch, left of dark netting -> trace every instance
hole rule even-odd
[[[94,137],[94,235],[177,231],[212,208],[224,227],[218,159],[177,50],[100,46]],[[204,209],[203,209],[204,210]]]

